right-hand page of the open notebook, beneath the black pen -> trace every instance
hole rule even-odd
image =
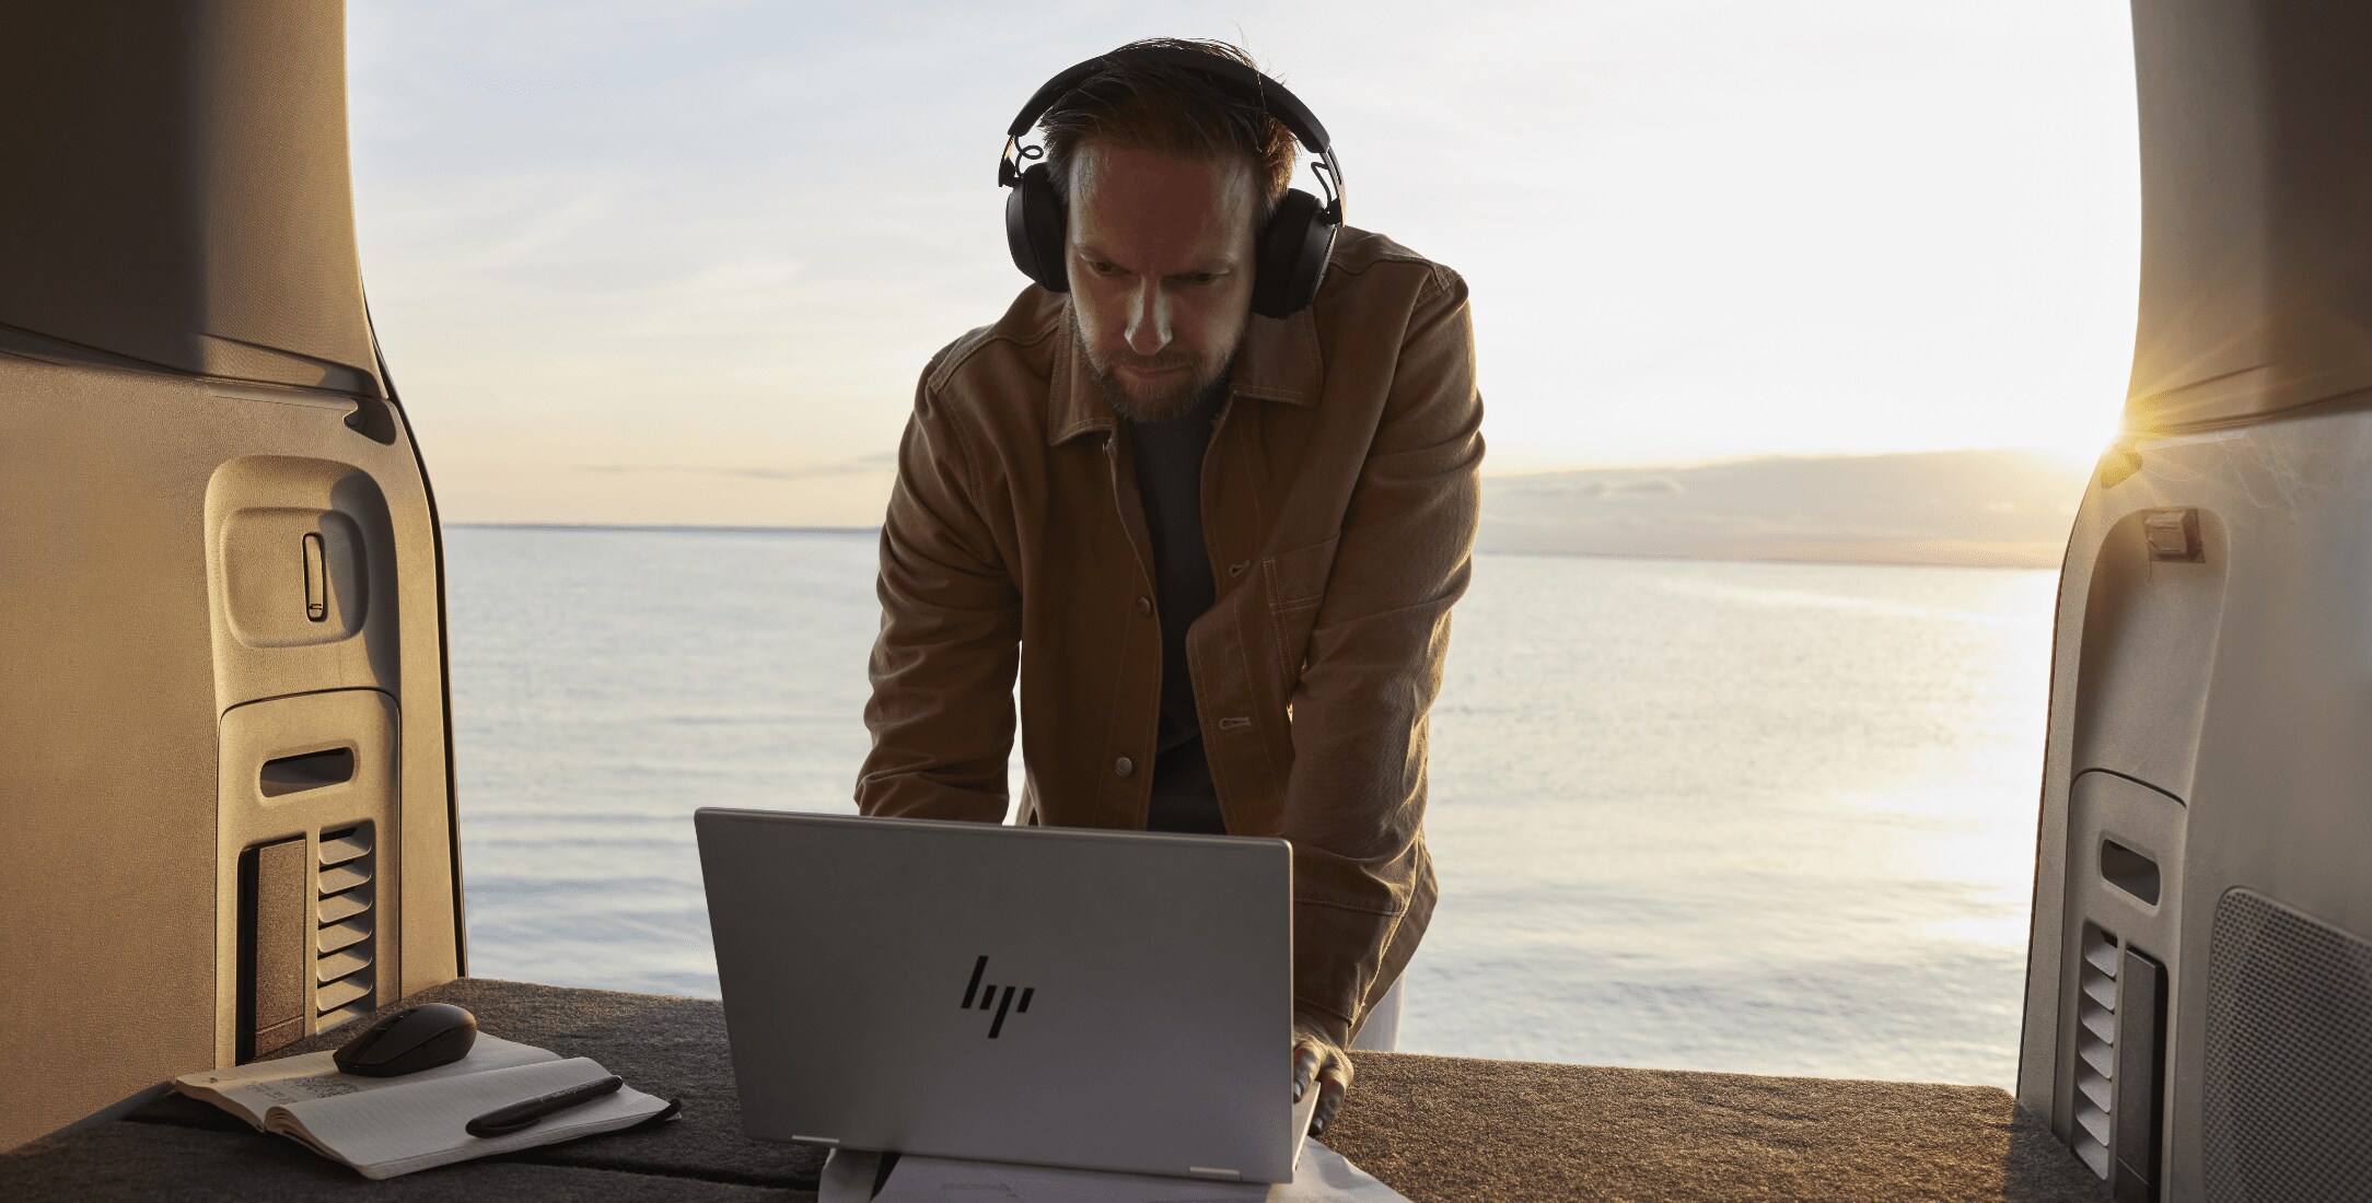
[[[363,1177],[394,1177],[429,1165],[510,1153],[557,1144],[591,1132],[636,1125],[667,1108],[633,1087],[619,1087],[591,1103],[550,1115],[508,1137],[472,1137],[465,1125],[493,1108],[522,1103],[538,1094],[607,1077],[610,1070],[586,1056],[538,1061],[508,1070],[470,1072],[436,1082],[403,1080],[398,1087],[368,1094],[339,1094],[275,1106],[266,1129],[296,1137],[320,1153],[344,1160]]]

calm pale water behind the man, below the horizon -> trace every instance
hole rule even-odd
[[[854,811],[873,534],[446,562],[470,970],[714,997],[690,811]],[[2011,1087],[2054,586],[1478,558],[1399,1049]]]

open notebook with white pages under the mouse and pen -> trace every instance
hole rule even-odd
[[[493,1108],[607,1075],[598,1061],[562,1058],[550,1049],[482,1032],[470,1056],[403,1077],[337,1072],[323,1051],[183,1075],[173,1080],[173,1089],[342,1160],[363,1177],[396,1177],[614,1132],[667,1110],[667,1099],[624,1087],[508,1137],[463,1132],[463,1125]]]

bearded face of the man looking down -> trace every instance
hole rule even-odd
[[[1210,399],[1252,313],[1252,166],[1082,142],[1070,308],[1105,401],[1134,422]]]

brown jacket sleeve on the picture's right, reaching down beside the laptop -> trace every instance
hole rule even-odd
[[[1482,396],[1466,282],[1433,268],[1352,486],[1290,698],[1295,1011],[1345,1044],[1433,906],[1426,712],[1480,510]]]

